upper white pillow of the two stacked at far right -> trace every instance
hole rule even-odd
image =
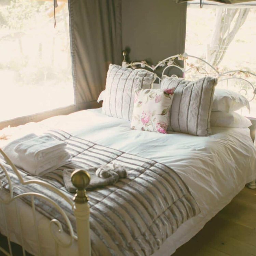
[[[250,111],[248,100],[239,93],[226,89],[215,89],[213,96],[212,111],[236,111],[243,106]]]

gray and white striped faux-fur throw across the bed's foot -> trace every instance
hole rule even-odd
[[[73,158],[70,165],[37,179],[51,183],[69,198],[73,195],[63,186],[63,169],[88,168],[109,162],[129,167],[126,179],[119,180],[114,186],[87,193],[92,255],[151,255],[182,223],[199,214],[199,207],[188,187],[171,168],[154,160],[73,137],[64,131],[49,131],[47,134],[65,141]],[[10,166],[6,163],[4,166],[15,183],[15,194],[32,190],[52,198],[67,212],[76,231],[75,218],[68,203],[40,185],[20,185]],[[22,170],[20,173],[25,180],[35,179]],[[2,171],[0,179],[5,180]],[[3,187],[8,190],[6,183]],[[30,204],[29,198],[23,200]],[[58,219],[64,230],[68,231],[56,209],[41,199],[36,200],[35,204],[41,214],[49,219]]]

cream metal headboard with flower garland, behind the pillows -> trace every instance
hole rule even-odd
[[[213,67],[207,61],[196,56],[177,54],[163,59],[157,65],[148,65],[145,60],[139,62],[127,63],[127,52],[123,51],[123,67],[130,68],[146,68],[157,74],[160,83],[162,75],[177,77],[177,69],[183,74],[183,78],[187,80],[197,80],[203,76],[213,76],[218,78],[218,88],[224,88],[236,91],[247,98],[252,105],[252,101],[256,94],[256,74],[245,70],[220,70]],[[184,61],[184,67],[179,64]],[[256,101],[256,99],[254,100]],[[256,102],[255,102],[256,105]]]

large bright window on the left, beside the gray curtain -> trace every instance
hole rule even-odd
[[[0,122],[74,104],[68,3],[0,1]]]

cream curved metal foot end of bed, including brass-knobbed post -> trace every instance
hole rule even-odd
[[[9,198],[3,199],[3,198],[0,197],[0,204],[1,204],[3,215],[4,215],[4,216],[1,216],[1,217],[3,217],[3,219],[4,219],[9,252],[6,252],[6,250],[4,250],[2,247],[0,247],[0,251],[2,253],[4,253],[5,255],[13,256],[12,247],[11,247],[11,240],[10,240],[10,233],[9,233],[9,230],[8,230],[7,220],[6,220],[6,216],[5,216],[5,205],[8,205],[12,202],[16,202],[16,199],[19,199],[21,197],[30,196],[36,240],[37,240],[37,245],[38,245],[38,249],[39,249],[38,250],[38,252],[39,252],[38,255],[41,256],[42,252],[41,252],[41,247],[40,247],[40,243],[39,243],[39,230],[38,230],[38,227],[37,227],[36,210],[35,210],[35,203],[34,203],[34,198],[36,198],[36,197],[44,199],[52,207],[55,207],[55,209],[58,210],[59,213],[62,215],[62,217],[65,220],[65,223],[66,223],[66,225],[69,229],[69,241],[68,242],[62,241],[60,239],[60,237],[61,237],[60,234],[63,233],[63,228],[62,228],[61,223],[57,219],[52,219],[50,221],[51,235],[52,235],[53,239],[55,240],[55,255],[56,256],[59,255],[59,247],[60,246],[63,247],[63,248],[70,247],[74,240],[77,240],[77,243],[78,243],[78,251],[79,251],[78,255],[79,256],[89,256],[89,255],[91,255],[90,227],[89,227],[90,210],[89,210],[89,205],[88,205],[88,197],[86,195],[86,190],[85,190],[85,188],[88,186],[88,184],[90,182],[90,175],[85,170],[82,170],[82,169],[75,170],[72,173],[71,180],[72,180],[73,185],[77,188],[77,192],[76,192],[76,194],[73,198],[73,201],[72,201],[66,195],[64,195],[59,189],[57,189],[56,187],[54,187],[51,184],[48,184],[47,182],[36,180],[36,179],[35,180],[24,181],[22,176],[20,175],[19,171],[15,167],[15,165],[12,163],[12,161],[9,159],[9,157],[1,150],[1,148],[0,148],[0,154],[4,157],[4,160],[11,166],[12,170],[15,172],[15,174],[17,175],[17,177],[19,179],[19,182],[22,185],[24,185],[24,186],[29,185],[29,184],[41,185],[41,186],[46,187],[47,189],[51,190],[53,193],[56,193],[63,200],[65,200],[73,209],[74,216],[76,218],[76,229],[77,229],[77,235],[75,235],[74,231],[73,231],[73,227],[71,225],[71,222],[70,222],[67,214],[51,198],[48,198],[47,196],[45,196],[43,194],[33,193],[33,192],[24,193],[24,194],[14,196],[14,194],[13,194],[13,184],[12,184],[12,181],[11,181],[10,176],[8,174],[8,171],[0,163],[0,167],[2,168],[2,170],[4,172],[4,174],[6,176],[6,179],[8,181],[8,185],[9,185]],[[0,191],[1,190],[3,190],[3,186],[2,186],[2,181],[0,180]],[[23,240],[23,229],[22,229],[21,220],[20,220],[20,217],[19,217],[19,212],[18,212],[18,208],[17,208],[16,203],[15,203],[15,208],[16,208],[16,214],[17,214],[17,219],[18,219],[19,231],[21,233],[20,245],[22,246],[23,256],[25,256],[26,252],[25,252],[25,246],[24,246],[24,240]],[[57,226],[57,229],[54,226]],[[58,231],[56,231],[56,230],[58,230]]]

